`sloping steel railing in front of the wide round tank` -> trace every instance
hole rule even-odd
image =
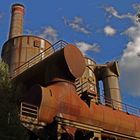
[[[52,55],[53,53],[61,50],[62,48],[64,48],[68,43],[63,41],[63,40],[59,40],[58,42],[56,42],[55,44],[51,45],[49,48],[45,49],[44,51],[42,51],[41,53],[37,54],[36,56],[32,57],[30,60],[28,60],[27,62],[25,62],[24,64],[20,65],[19,67],[17,67],[16,69],[14,69],[11,78],[15,78],[16,76],[18,76],[19,74],[21,74],[22,72],[26,71],[27,69],[29,69],[30,67],[34,66],[35,64],[39,63],[40,61],[44,60],[45,58],[49,57],[50,55]]]

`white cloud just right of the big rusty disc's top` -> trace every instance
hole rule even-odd
[[[86,42],[76,42],[76,46],[82,51],[82,53],[85,55],[87,51],[93,51],[93,52],[100,52],[100,46],[96,43],[89,44]]]

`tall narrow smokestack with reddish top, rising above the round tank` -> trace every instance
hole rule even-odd
[[[23,32],[23,16],[24,16],[24,5],[13,4],[11,9],[11,24],[9,39],[22,35]]]

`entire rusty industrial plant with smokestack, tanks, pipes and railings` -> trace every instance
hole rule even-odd
[[[65,41],[22,35],[23,15],[14,4],[1,56],[22,84],[20,120],[30,139],[140,140],[140,109],[122,103],[118,63],[97,64]]]

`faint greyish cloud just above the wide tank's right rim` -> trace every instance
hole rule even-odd
[[[51,43],[55,43],[56,41],[58,41],[58,33],[56,29],[51,26],[44,27],[39,36],[47,39]]]

